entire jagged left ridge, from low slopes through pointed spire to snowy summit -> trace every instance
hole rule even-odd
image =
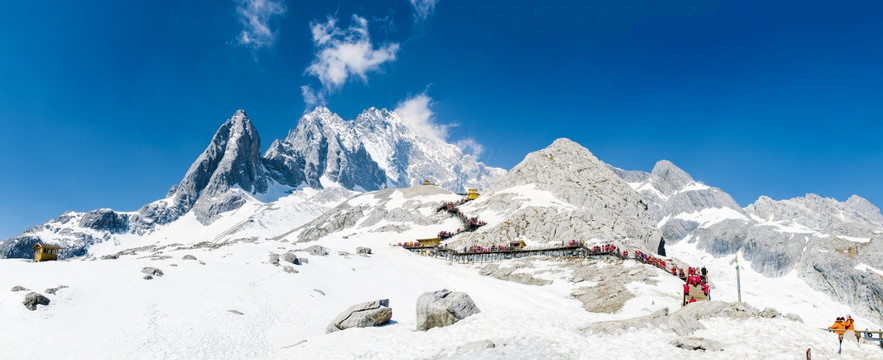
[[[505,173],[454,145],[417,135],[396,112],[374,108],[345,121],[319,107],[263,156],[260,146],[257,129],[238,110],[164,199],[135,212],[65,213],[0,242],[0,257],[30,257],[37,242],[63,244],[62,258],[81,256],[116,234],[145,234],[189,212],[209,225],[247,201],[272,202],[303,188],[371,191],[428,179],[462,192]]]

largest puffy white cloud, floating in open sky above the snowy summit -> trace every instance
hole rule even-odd
[[[351,76],[368,81],[367,73],[377,71],[380,65],[394,61],[399,44],[391,43],[374,47],[368,34],[368,20],[353,15],[348,28],[337,26],[337,19],[324,23],[312,23],[313,44],[317,52],[306,72],[316,76],[323,89],[317,97],[339,90]]]

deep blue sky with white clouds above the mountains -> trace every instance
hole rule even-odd
[[[0,239],[164,197],[236,109],[266,149],[415,97],[492,166],[569,137],[743,206],[883,205],[883,2],[367,3],[0,3]]]

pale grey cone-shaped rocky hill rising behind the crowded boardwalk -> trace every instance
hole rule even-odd
[[[453,246],[599,238],[654,252],[662,237],[647,203],[608,165],[568,139],[528,154],[474,205],[461,208],[496,212],[505,221],[460,235]]]

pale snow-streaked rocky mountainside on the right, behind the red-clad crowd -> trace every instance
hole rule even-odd
[[[883,320],[883,215],[853,195],[846,202],[815,194],[739,208],[723,190],[697,182],[669,161],[652,173],[614,169],[650,204],[669,249],[679,242],[714,256],[741,254],[770,277],[796,274],[815,289]],[[876,264],[876,265],[869,265]]]

